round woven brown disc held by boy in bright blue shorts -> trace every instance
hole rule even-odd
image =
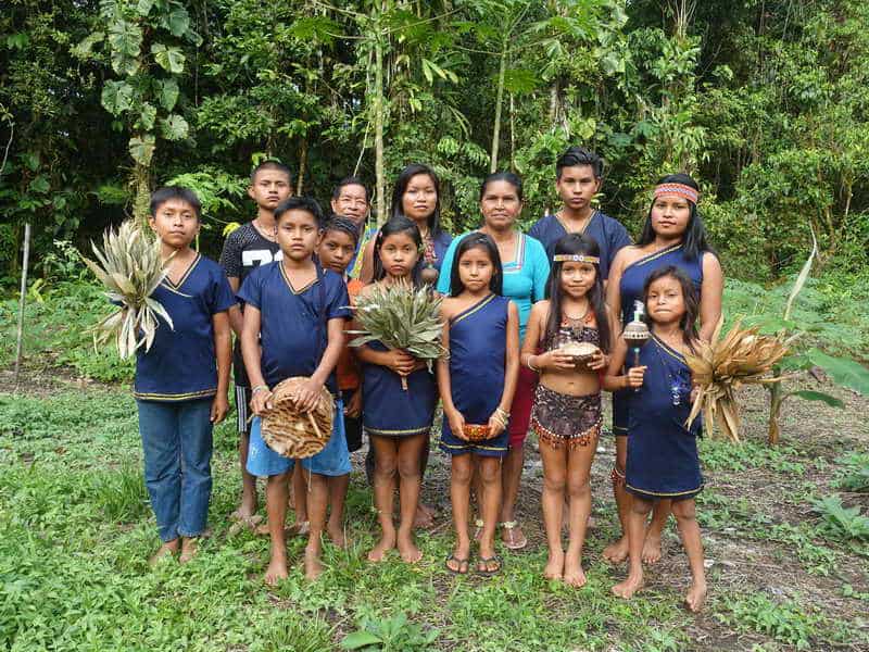
[[[295,376],[278,383],[272,392],[274,408],[263,416],[263,441],[285,457],[299,460],[316,455],[332,435],[335,402],[325,387],[313,411],[300,412],[295,408],[291,397],[307,380]]]

